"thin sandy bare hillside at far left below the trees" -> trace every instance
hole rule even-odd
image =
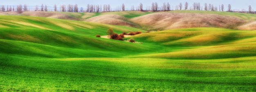
[[[0,15],[22,15],[22,16],[34,16],[34,17],[48,17],[55,19],[67,19],[67,20],[79,20],[70,15],[63,13],[54,13],[54,12],[42,12],[42,11],[23,11],[23,12],[2,12]]]

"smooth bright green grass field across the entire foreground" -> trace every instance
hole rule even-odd
[[[255,57],[220,60],[0,56],[2,91],[249,91]]]

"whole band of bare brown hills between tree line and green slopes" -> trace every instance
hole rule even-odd
[[[63,13],[63,12],[3,12],[0,15],[25,15],[48,17],[100,24],[128,26],[143,30],[170,30],[180,28],[228,28],[256,30],[254,14],[227,13],[215,11],[169,11],[169,12],[104,12],[104,13]]]

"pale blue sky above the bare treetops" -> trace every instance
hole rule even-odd
[[[227,10],[228,4],[231,4],[231,9],[246,9],[251,5],[252,9],[256,10],[256,0],[1,0],[0,5],[18,5],[18,4],[27,4],[28,6],[40,6],[41,4],[47,4],[47,6],[57,6],[68,5],[68,4],[78,4],[80,7],[86,7],[87,4],[110,4],[111,8],[116,8],[125,4],[126,9],[130,9],[132,5],[135,7],[142,3],[144,8],[150,6],[152,2],[157,2],[159,6],[162,6],[164,2],[169,2],[171,6],[177,6],[180,2],[183,4],[188,2],[189,7],[192,6],[194,2],[200,2],[201,6],[204,6],[204,3],[213,4],[214,6],[219,6],[224,4],[225,10]],[[255,6],[254,6],[255,5]]]

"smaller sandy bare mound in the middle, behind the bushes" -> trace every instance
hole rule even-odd
[[[111,24],[111,25],[119,25],[119,26],[129,26],[135,27],[136,24],[132,24],[127,20],[128,18],[121,15],[100,15],[96,17],[92,17],[86,19],[87,22],[101,23],[101,24]]]

